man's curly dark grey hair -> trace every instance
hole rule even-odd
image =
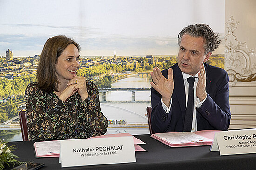
[[[219,47],[219,44],[221,43],[219,34],[214,33],[207,24],[188,25],[183,28],[178,35],[179,46],[181,44],[182,36],[184,34],[188,34],[192,37],[203,37],[205,55],[209,52],[213,52],[216,48]]]

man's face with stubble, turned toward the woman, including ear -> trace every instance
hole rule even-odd
[[[203,45],[203,37],[182,36],[177,63],[183,73],[195,75],[200,71],[201,63],[209,59],[211,52],[204,55]]]

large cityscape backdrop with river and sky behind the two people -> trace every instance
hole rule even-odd
[[[215,11],[202,17],[199,13],[206,9],[199,1],[197,13],[188,5],[172,8],[188,0],[1,2],[1,7],[12,6],[13,13],[3,8],[0,16],[0,139],[22,140],[18,114],[26,111],[25,89],[37,81],[43,44],[55,35],[66,35],[81,45],[77,74],[98,87],[101,111],[109,124],[107,134],[148,134],[150,72],[176,63],[179,31],[189,24],[206,23],[224,38],[224,2],[209,2]],[[28,4],[19,13],[20,6]],[[40,11],[35,13],[35,8]],[[223,44],[207,63],[224,69]]]

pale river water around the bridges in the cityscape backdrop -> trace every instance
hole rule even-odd
[[[111,88],[150,88],[148,77],[131,76],[112,83]],[[136,91],[135,101],[132,92],[108,91],[106,102],[101,102],[101,111],[108,120],[124,120],[127,124],[148,124],[146,107],[151,105],[150,91]],[[101,94],[100,94],[101,101]],[[108,128],[107,134],[113,133],[149,134],[148,128]],[[21,132],[15,135],[0,135],[7,141],[22,141]]]

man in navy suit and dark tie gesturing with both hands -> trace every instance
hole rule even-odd
[[[206,64],[220,44],[209,25],[195,24],[178,35],[177,64],[151,72],[151,126],[155,132],[227,130],[229,77],[225,70]]]

